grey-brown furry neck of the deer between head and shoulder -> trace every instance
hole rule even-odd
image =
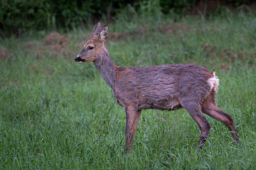
[[[93,62],[93,65],[97,67],[104,81],[114,89],[116,67],[112,59],[109,57],[107,49],[103,49],[102,54],[100,54],[99,58]]]

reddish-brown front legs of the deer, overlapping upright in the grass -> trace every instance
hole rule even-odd
[[[126,107],[126,153],[129,153],[133,148],[133,137],[136,130],[135,128],[137,127],[137,122],[139,121],[138,119],[140,119],[140,116],[138,116],[138,114],[140,115],[140,112],[138,113],[136,107]]]

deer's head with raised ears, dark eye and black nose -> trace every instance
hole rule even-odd
[[[75,61],[78,63],[96,61],[102,50],[105,48],[104,41],[109,36],[109,27],[99,22],[95,27],[93,37],[83,46],[83,50],[76,56]]]

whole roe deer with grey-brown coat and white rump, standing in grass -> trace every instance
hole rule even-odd
[[[203,113],[225,124],[239,143],[232,117],[216,106],[219,79],[215,72],[192,64],[152,67],[118,67],[104,46],[109,27],[97,23],[92,40],[76,56],[78,63],[92,61],[112,88],[116,102],[126,111],[126,153],[133,147],[133,137],[142,109],[175,110],[184,107],[201,130],[202,149],[211,125]]]

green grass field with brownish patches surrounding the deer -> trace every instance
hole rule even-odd
[[[133,151],[124,154],[125,110],[92,63],[74,61],[91,25],[50,41],[42,31],[1,40],[0,169],[256,168],[255,14],[133,17],[109,24],[106,47],[114,63],[194,63],[215,70],[218,107],[233,117],[241,144],[206,115],[211,131],[198,152],[200,130],[185,109],[148,109]]]

